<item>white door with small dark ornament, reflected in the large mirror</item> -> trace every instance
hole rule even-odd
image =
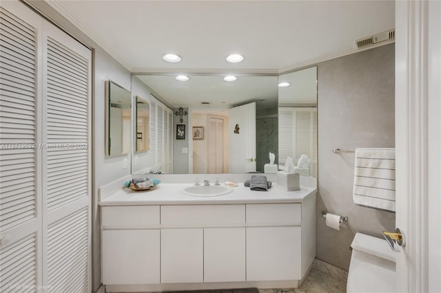
[[[256,171],[256,103],[228,110],[229,173]]]

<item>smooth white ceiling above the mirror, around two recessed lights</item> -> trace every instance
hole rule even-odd
[[[132,72],[283,72],[394,28],[393,1],[72,1],[48,3]],[[182,56],[166,63],[165,53]],[[243,54],[231,64],[225,57]]]

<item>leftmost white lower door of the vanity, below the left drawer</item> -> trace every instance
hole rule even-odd
[[[103,284],[160,282],[159,230],[103,230]]]

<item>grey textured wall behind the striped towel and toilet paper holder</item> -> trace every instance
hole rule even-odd
[[[318,64],[317,258],[347,270],[356,232],[381,237],[395,230],[395,214],[353,204],[353,153],[332,149],[395,146],[394,44]],[[321,211],[346,215],[340,231]]]

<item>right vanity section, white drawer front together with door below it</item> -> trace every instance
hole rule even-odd
[[[300,280],[302,204],[247,204],[247,281]]]

